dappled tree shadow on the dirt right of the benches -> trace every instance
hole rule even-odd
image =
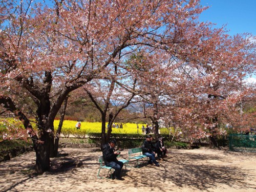
[[[202,160],[216,160],[221,161],[222,158],[217,155],[195,155],[195,154],[175,154],[172,155],[172,158],[164,159],[160,164],[164,164],[164,170],[162,172],[152,170],[150,173],[151,180],[148,180],[148,177],[145,177],[147,172],[144,172],[143,175],[136,177],[133,180],[134,185],[140,185],[144,183],[148,187],[157,187],[159,190],[164,191],[164,183],[171,181],[176,186],[190,187],[198,190],[207,190],[208,188],[214,188],[217,186],[226,184],[228,186],[237,185],[240,189],[248,185],[246,179],[250,176],[245,172],[241,172],[241,169],[236,166],[223,166],[216,164],[196,164],[194,161]],[[147,179],[145,179],[147,178]],[[159,181],[159,185],[155,185],[155,180]],[[248,186],[252,187],[253,186]],[[170,188],[171,190],[171,188]]]

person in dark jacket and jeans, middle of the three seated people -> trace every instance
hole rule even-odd
[[[142,148],[142,154],[150,158],[148,161],[148,164],[155,163],[156,166],[159,166],[159,163],[155,159],[155,152],[152,151],[152,145],[151,145],[151,135],[147,135],[146,139],[144,140],[141,148]]]

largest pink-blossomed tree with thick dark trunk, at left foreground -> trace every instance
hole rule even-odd
[[[50,6],[30,0],[2,0],[0,94],[5,106],[7,98],[17,104],[17,98],[24,97],[36,105],[37,173],[50,169],[53,121],[68,94],[93,79],[108,77],[115,63],[118,69],[124,69],[125,60],[138,49],[146,58],[142,67],[147,69],[155,65],[155,72],[163,71],[161,66],[171,59],[169,68],[183,65],[184,69],[202,73],[202,82],[195,82],[203,83],[205,88],[207,85],[207,95],[215,93],[217,81],[212,81],[213,77],[221,79],[225,72],[232,72],[224,77],[239,79],[248,69],[254,70],[248,40],[231,38],[223,29],[199,23],[198,16],[205,9],[199,0],[55,0]],[[135,69],[131,72],[141,73]],[[150,85],[147,89],[157,86],[164,77],[160,73],[154,76],[151,70],[147,74],[141,78]],[[151,80],[152,76],[156,81]],[[172,88],[178,80],[166,85]],[[178,84],[178,90],[182,90],[189,83]],[[196,87],[188,89],[197,91]],[[24,94],[11,94],[14,91]],[[175,99],[178,103],[182,97]],[[25,127],[28,129],[27,124]]]

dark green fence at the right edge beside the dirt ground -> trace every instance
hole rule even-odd
[[[256,135],[230,134],[229,150],[237,152],[256,152]]]

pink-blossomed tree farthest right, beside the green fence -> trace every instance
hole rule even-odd
[[[169,113],[166,120],[172,119],[189,138],[209,137],[218,146],[216,136],[226,134],[225,125],[239,132],[255,126],[255,114],[243,113],[243,105],[255,97],[255,84],[245,81],[255,73],[255,44],[248,36],[230,37],[214,30],[202,45],[211,46],[207,52],[200,57],[201,51],[197,52],[196,58],[187,58],[174,71],[181,76],[169,81],[172,89],[166,91],[172,94],[166,96],[171,102],[164,114]]]

